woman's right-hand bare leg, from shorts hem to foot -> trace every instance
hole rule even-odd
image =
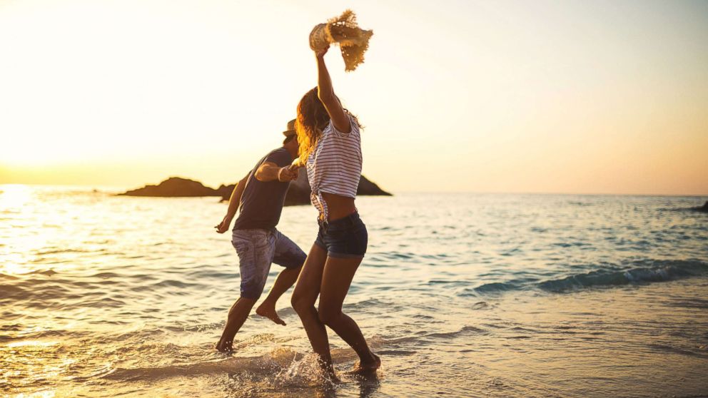
[[[320,322],[334,330],[359,355],[360,371],[377,369],[381,361],[369,349],[359,326],[342,312],[342,305],[360,258],[327,257],[320,285]]]

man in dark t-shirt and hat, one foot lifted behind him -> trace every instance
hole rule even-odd
[[[265,155],[251,173],[238,182],[231,193],[226,216],[215,227],[216,232],[225,233],[236,209],[240,208],[231,243],[236,248],[241,269],[241,297],[228,311],[226,326],[216,345],[221,352],[233,350],[233,337],[261,297],[271,262],[282,265],[285,270],[275,279],[256,314],[285,325],[275,312],[275,302],[295,283],[305,262],[305,252],[275,229],[290,181],[298,178],[298,170],[289,167],[298,157],[294,120],[288,123],[288,130],[283,131],[283,135],[283,146]]]

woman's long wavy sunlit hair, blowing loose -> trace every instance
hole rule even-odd
[[[298,103],[298,117],[295,119],[295,133],[298,135],[298,155],[300,163],[307,162],[310,153],[315,150],[322,131],[330,123],[330,116],[324,104],[317,95],[317,87],[305,93],[300,103]],[[360,126],[357,118],[348,110],[344,110],[353,117],[354,122]]]

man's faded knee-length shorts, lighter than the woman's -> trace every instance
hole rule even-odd
[[[258,300],[268,280],[270,263],[298,268],[305,252],[275,228],[270,230],[233,230],[231,244],[236,248],[241,269],[241,297]]]

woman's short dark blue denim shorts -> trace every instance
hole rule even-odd
[[[329,257],[361,258],[366,252],[369,235],[359,213],[332,221],[318,220],[320,230],[315,245]]]

